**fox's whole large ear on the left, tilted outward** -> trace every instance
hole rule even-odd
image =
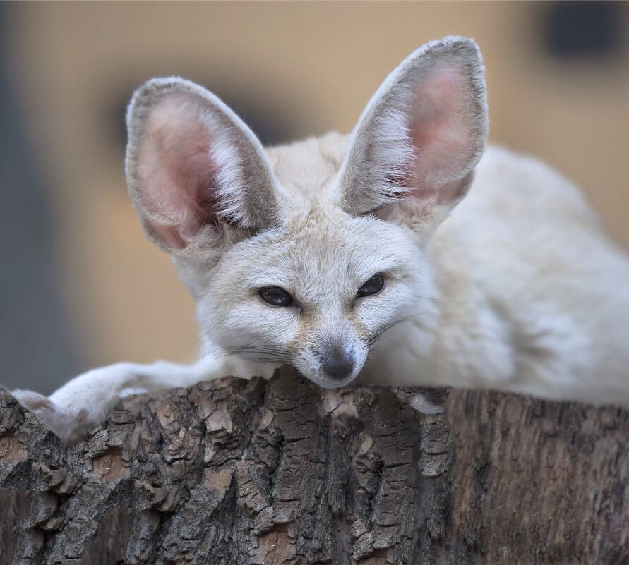
[[[127,127],[129,193],[164,250],[215,261],[236,233],[277,222],[275,177],[260,142],[204,88],[149,80],[133,95]]]

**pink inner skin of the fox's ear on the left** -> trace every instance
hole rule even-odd
[[[211,156],[212,134],[190,103],[168,97],[145,126],[138,154],[138,189],[145,225],[169,248],[182,249],[215,221],[219,167]]]

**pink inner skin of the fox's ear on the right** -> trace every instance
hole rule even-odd
[[[415,166],[405,182],[411,193],[450,202],[459,196],[461,176],[474,154],[471,94],[462,71],[441,64],[419,84],[410,133]]]

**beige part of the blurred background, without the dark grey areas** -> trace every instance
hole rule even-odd
[[[351,130],[387,73],[420,44],[473,37],[486,63],[491,141],[561,169],[629,246],[627,46],[608,62],[553,60],[542,49],[547,9],[475,1],[13,6],[8,65],[45,171],[57,283],[80,367],[191,359],[197,346],[191,300],[168,257],[143,238],[124,183],[121,113],[133,88],[155,75],[227,92],[300,138]]]

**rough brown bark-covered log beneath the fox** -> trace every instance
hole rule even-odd
[[[0,564],[627,564],[629,412],[322,392],[128,399],[67,449],[0,391]]]

